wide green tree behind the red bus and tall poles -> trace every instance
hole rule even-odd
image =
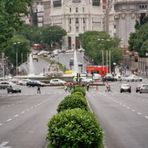
[[[102,51],[105,53],[107,50],[111,50],[112,57],[116,57],[112,58],[114,62],[118,63],[121,60],[122,54],[118,48],[120,43],[118,38],[111,38],[107,33],[97,31],[88,31],[79,36],[81,45],[86,51],[85,54],[93,59],[94,64],[102,64]],[[114,54],[118,56],[114,56]]]

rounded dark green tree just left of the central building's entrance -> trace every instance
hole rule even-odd
[[[61,40],[65,35],[66,31],[61,27],[48,26],[43,29],[42,41],[51,49],[56,43],[61,44]]]

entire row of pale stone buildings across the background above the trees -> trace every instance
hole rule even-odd
[[[136,21],[148,12],[148,0],[34,0],[33,22],[37,26],[58,25],[66,30],[63,48],[80,48],[79,34],[106,31],[128,47]]]

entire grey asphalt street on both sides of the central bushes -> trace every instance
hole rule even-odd
[[[105,92],[105,86],[87,92],[104,130],[105,148],[147,148],[148,94],[135,92],[139,82],[128,82],[132,93],[120,93],[121,83],[110,82],[112,92]],[[67,94],[63,87],[43,87],[41,94],[29,87],[22,87],[21,94],[0,90],[0,148],[44,147],[48,120]]]

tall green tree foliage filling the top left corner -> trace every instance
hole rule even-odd
[[[22,14],[28,14],[31,0],[0,0],[0,52],[22,25]]]

